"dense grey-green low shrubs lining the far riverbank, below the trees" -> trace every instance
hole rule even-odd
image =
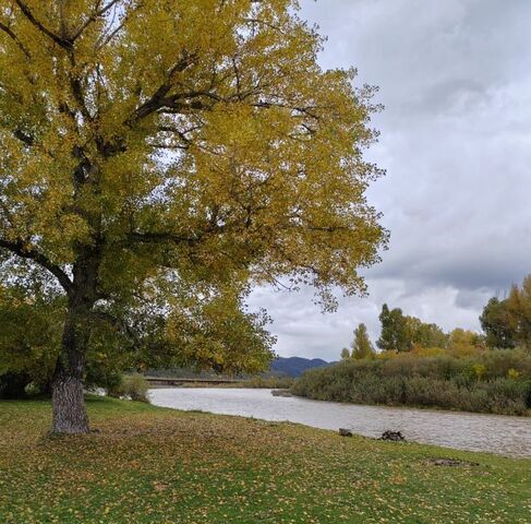
[[[506,349],[466,358],[348,360],[306,371],[291,391],[323,401],[528,415],[531,355]]]

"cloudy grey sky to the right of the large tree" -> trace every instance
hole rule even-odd
[[[369,191],[391,231],[366,271],[370,296],[333,314],[313,291],[256,289],[281,356],[334,360],[383,302],[480,330],[493,295],[531,273],[531,1],[301,0],[328,37],[324,68],[355,67],[386,109],[367,159],[387,175]]]

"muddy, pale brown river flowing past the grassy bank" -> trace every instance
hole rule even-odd
[[[176,409],[349,428],[365,437],[390,429],[426,444],[531,456],[531,418],[524,417],[339,404],[273,396],[271,390],[177,388],[150,390],[149,395],[153,404]]]

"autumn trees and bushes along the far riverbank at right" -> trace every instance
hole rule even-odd
[[[437,406],[526,415],[531,410],[531,275],[480,317],[483,333],[382,308],[377,352],[360,324],[341,362],[304,373],[292,391],[310,398]]]

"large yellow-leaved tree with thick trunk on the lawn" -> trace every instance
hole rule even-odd
[[[292,275],[325,301],[364,289],[357,269],[386,242],[364,198],[373,90],[323,71],[295,13],[0,1],[0,250],[10,278],[40,269],[68,299],[55,431],[88,431],[86,346],[106,308],[143,295],[171,311],[180,294],[174,330],[186,305],[239,303],[245,283]]]

